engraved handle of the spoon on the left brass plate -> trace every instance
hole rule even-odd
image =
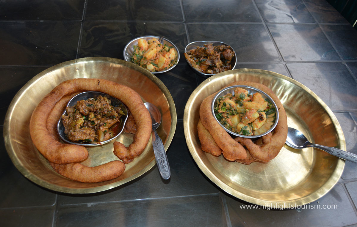
[[[163,179],[167,180],[170,178],[170,166],[167,161],[167,155],[165,152],[164,144],[157,135],[156,130],[152,130],[152,148],[154,148],[155,159],[157,162],[157,167],[159,167],[159,172]]]

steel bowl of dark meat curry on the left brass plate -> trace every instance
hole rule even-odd
[[[82,92],[68,102],[57,131],[67,143],[97,146],[119,136],[127,118],[120,100],[102,92]]]

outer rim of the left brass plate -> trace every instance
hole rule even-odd
[[[93,186],[93,187],[86,187],[86,188],[83,188],[83,187],[69,188],[69,187],[62,187],[62,186],[58,186],[58,185],[49,184],[48,182],[41,180],[38,176],[32,174],[29,170],[27,170],[24,166],[21,165],[21,162],[19,161],[19,159],[17,158],[17,155],[14,152],[14,147],[12,146],[11,138],[9,135],[11,116],[14,112],[16,103],[19,101],[19,98],[24,95],[25,91],[27,89],[29,89],[29,87],[32,84],[36,83],[36,81],[39,81],[41,78],[45,77],[46,74],[48,74],[52,71],[55,71],[57,69],[67,67],[67,66],[71,66],[71,65],[75,65],[75,64],[86,64],[89,62],[105,62],[105,63],[110,63],[110,64],[125,65],[128,68],[135,69],[136,71],[139,71],[140,73],[142,73],[143,75],[148,77],[152,82],[154,82],[156,84],[156,86],[158,86],[159,89],[162,90],[163,94],[165,95],[165,98],[167,99],[167,102],[170,105],[171,128],[170,128],[169,135],[167,136],[166,143],[164,144],[166,152],[167,152],[167,149],[169,148],[169,146],[172,142],[172,139],[174,137],[174,134],[176,131],[176,124],[177,124],[177,113],[176,113],[176,107],[175,107],[174,100],[173,100],[169,90],[165,86],[165,84],[162,83],[162,81],[159,78],[157,78],[154,74],[150,73],[149,71],[145,70],[144,68],[141,68],[131,62],[127,62],[127,61],[120,60],[117,58],[109,58],[109,57],[78,58],[75,60],[65,61],[65,62],[59,63],[57,65],[51,66],[51,67],[45,69],[44,71],[38,73],[32,79],[30,79],[30,81],[27,82],[16,93],[15,97],[12,99],[12,101],[9,105],[9,108],[7,109],[7,112],[5,115],[5,121],[4,121],[4,129],[3,129],[5,148],[6,148],[7,154],[9,155],[9,157],[10,157],[12,163],[14,164],[14,166],[16,167],[16,169],[19,170],[21,172],[21,174],[24,175],[27,179],[31,180],[32,182],[34,182],[35,184],[37,184],[41,187],[45,187],[46,189],[50,189],[50,190],[57,191],[57,192],[69,193],[69,194],[90,194],[90,193],[95,193],[95,192],[106,191],[106,190],[112,189],[114,187],[123,185],[131,180],[136,179],[137,177],[140,177],[141,175],[145,174],[145,172],[149,171],[152,167],[154,167],[156,165],[156,160],[154,157],[149,162],[149,164],[147,164],[145,167],[143,167],[141,169],[141,171],[137,172],[136,174],[134,174],[124,180],[111,183],[110,185],[100,185],[100,186]],[[73,77],[73,78],[85,78],[85,77]],[[147,144],[147,146],[149,146],[149,145],[151,145],[151,139],[149,140],[149,143]],[[89,183],[85,183],[85,184],[89,184]]]

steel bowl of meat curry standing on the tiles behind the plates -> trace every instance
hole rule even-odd
[[[192,70],[204,78],[234,69],[237,63],[233,48],[219,41],[191,42],[184,55]]]

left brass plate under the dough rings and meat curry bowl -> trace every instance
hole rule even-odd
[[[80,58],[60,63],[32,78],[12,100],[4,124],[7,153],[16,168],[36,184],[59,192],[92,193],[108,190],[129,182],[156,165],[151,139],[143,153],[126,165],[124,174],[116,179],[99,183],[82,183],[57,174],[35,148],[29,133],[32,111],[41,99],[59,83],[73,78],[102,78],[124,84],[134,89],[146,102],[155,104],[162,114],[162,123],[157,129],[165,150],[169,147],[176,129],[176,109],[166,86],[152,73],[134,63],[115,58]],[[116,141],[125,146],[132,143],[132,134],[122,133]],[[111,141],[102,146],[86,147],[89,157],[82,162],[97,166],[119,160],[113,154]]]

